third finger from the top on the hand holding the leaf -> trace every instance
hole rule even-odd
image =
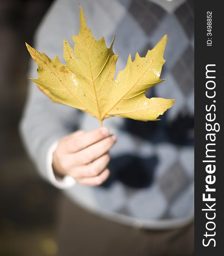
[[[108,163],[110,161],[109,154],[104,154],[92,163],[88,163],[84,166],[79,166],[74,169],[69,175],[77,178],[84,177],[96,177],[98,176],[104,169],[106,169]]]

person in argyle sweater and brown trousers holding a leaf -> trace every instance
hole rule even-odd
[[[78,3],[97,40],[110,45],[116,32],[117,70],[168,34],[167,81],[147,96],[176,103],[158,122],[113,117],[98,128],[30,83],[20,129],[40,173],[65,189],[60,255],[193,255],[193,0],[56,0],[36,33],[38,51],[62,61],[63,39],[73,45],[78,34]]]

